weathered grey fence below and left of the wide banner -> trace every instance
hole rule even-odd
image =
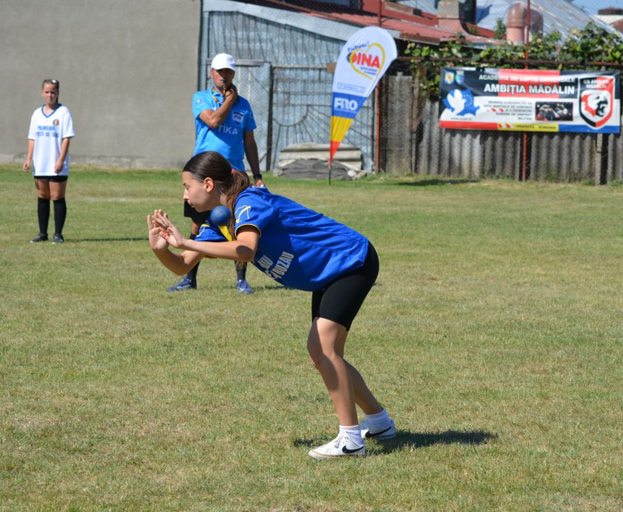
[[[439,128],[439,105],[421,97],[410,68],[409,60],[397,60],[380,84],[381,171],[476,180],[623,180],[621,134]]]

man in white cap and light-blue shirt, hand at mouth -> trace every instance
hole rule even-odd
[[[260,173],[257,144],[253,130],[255,119],[249,102],[238,95],[232,84],[235,75],[234,57],[229,54],[217,54],[212,59],[210,77],[214,86],[211,89],[197,91],[193,95],[193,115],[197,137],[194,155],[204,151],[221,153],[232,168],[244,171],[243,158],[246,156],[255,180],[255,186],[264,186]],[[184,201],[184,216],[193,221],[191,239],[199,234],[201,225],[206,221],[209,211],[199,213]],[[196,289],[199,263],[169,291]],[[247,264],[236,266],[236,289],[241,293],[253,293],[246,280]]]

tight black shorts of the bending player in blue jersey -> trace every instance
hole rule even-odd
[[[337,322],[350,330],[354,317],[379,274],[379,257],[372,244],[366,261],[358,269],[342,274],[312,293],[312,322],[316,317]]]

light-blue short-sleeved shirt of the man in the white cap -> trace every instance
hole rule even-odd
[[[204,110],[217,110],[224,102],[225,97],[213,87],[200,90],[193,95],[193,115],[197,129],[194,154],[204,151],[221,153],[234,169],[244,171],[244,132],[255,130],[255,119],[251,105],[242,96],[239,96],[225,120],[217,128],[210,128],[200,118]]]

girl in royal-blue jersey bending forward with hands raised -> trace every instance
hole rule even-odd
[[[351,323],[378,274],[368,239],[266,188],[250,186],[246,173],[232,170],[216,152],[191,158],[182,179],[184,200],[197,211],[223,205],[233,215],[227,229],[205,224],[194,240],[184,238],[162,210],[148,215],[151,249],[166,268],[181,275],[204,256],[248,261],[278,283],[312,292],[307,350],[333,400],[340,433],[309,455],[364,455],[364,439],[396,437],[394,422],[344,359]],[[169,245],[186,250],[173,253]],[[355,404],[366,414],[361,425]]]

